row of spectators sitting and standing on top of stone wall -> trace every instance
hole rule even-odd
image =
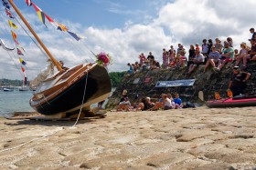
[[[147,56],[142,53],[138,56],[139,62],[127,64],[129,66],[128,73],[133,74],[150,69],[176,69],[187,66],[187,75],[190,75],[198,65],[205,65],[203,73],[207,72],[210,65],[214,71],[219,72],[229,62],[234,63],[235,66],[240,65],[245,70],[249,61],[256,61],[256,32],[254,28],[251,28],[250,32],[252,34],[249,39],[251,46],[241,42],[240,49],[234,49],[231,37],[227,37],[223,44],[219,38],[215,38],[215,43],[212,39],[203,39],[202,45],[198,43],[190,45],[188,55],[183,45],[178,44],[176,50],[173,45],[170,45],[169,50],[163,49],[161,65],[155,60],[152,52],[149,52]]]

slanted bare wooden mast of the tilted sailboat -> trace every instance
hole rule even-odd
[[[19,9],[16,7],[16,5],[14,4],[13,0],[8,0],[8,2],[13,6],[13,8],[16,10],[16,14],[19,15],[19,17],[22,19],[22,21],[24,22],[25,25],[27,25],[27,28],[29,29],[29,31],[32,33],[32,35],[34,35],[34,37],[37,39],[37,42],[42,46],[42,48],[45,50],[45,52],[48,54],[48,56],[50,57],[50,60],[53,62],[54,65],[57,66],[57,69],[59,71],[62,71],[61,66],[59,65],[59,62],[53,57],[53,55],[51,55],[48,51],[48,48],[46,47],[46,45],[43,44],[43,42],[40,40],[40,38],[37,36],[36,32],[32,29],[32,27],[27,23],[27,20],[25,19],[25,17],[20,13]]]

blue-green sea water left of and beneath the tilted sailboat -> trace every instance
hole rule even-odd
[[[112,88],[112,92],[115,88]],[[18,91],[15,89],[12,92],[4,92],[0,90],[0,116],[11,116],[15,112],[31,112],[34,111],[29,105],[29,100],[33,95],[33,91]],[[104,105],[107,103],[105,101]],[[104,106],[103,105],[103,106]],[[97,104],[91,105],[96,107]]]

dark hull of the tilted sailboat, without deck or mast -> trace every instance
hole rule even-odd
[[[79,110],[80,107],[88,106],[86,104],[91,101],[99,102],[108,97],[111,92],[112,85],[108,72],[100,65],[93,66],[88,73],[75,78],[78,80],[59,95],[46,99],[45,102],[41,102],[44,99],[38,102],[30,100],[30,105],[42,115],[69,113]]]

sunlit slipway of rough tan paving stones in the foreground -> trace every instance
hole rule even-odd
[[[109,112],[75,127],[0,118],[0,169],[252,170],[255,108]]]

